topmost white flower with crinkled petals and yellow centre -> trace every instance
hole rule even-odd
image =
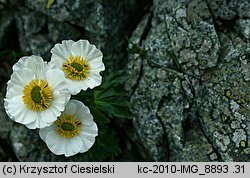
[[[51,63],[60,68],[71,94],[99,86],[105,67],[102,52],[87,40],[64,40],[51,49]]]

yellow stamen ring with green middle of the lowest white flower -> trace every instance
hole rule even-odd
[[[55,121],[57,133],[64,138],[72,138],[80,133],[81,121],[72,114],[62,115]]]

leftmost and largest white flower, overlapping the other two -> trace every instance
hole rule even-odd
[[[35,129],[51,125],[69,98],[63,72],[39,56],[27,56],[13,66],[4,106],[12,120]]]

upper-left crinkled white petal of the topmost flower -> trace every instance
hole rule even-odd
[[[51,53],[52,53],[51,61],[53,61],[53,63],[54,63],[55,59],[65,61],[65,59],[72,56],[71,47],[72,47],[73,43],[74,43],[74,41],[72,41],[72,40],[63,40],[62,44],[56,44],[51,49]]]

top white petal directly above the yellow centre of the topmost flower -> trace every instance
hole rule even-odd
[[[86,59],[91,45],[88,40],[79,40],[72,45],[71,52],[73,56],[81,56]]]

